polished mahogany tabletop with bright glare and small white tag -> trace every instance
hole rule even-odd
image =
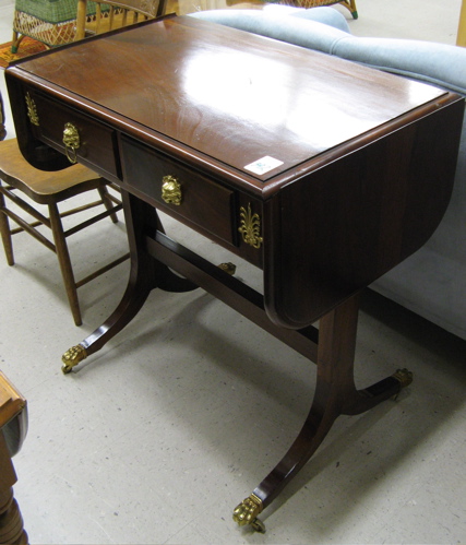
[[[444,94],[241,31],[226,40],[225,27],[189,16],[22,69],[262,181]],[[81,76],[88,71],[95,76]],[[264,156],[270,166],[258,164]]]

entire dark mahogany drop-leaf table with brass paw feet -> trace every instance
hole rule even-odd
[[[77,161],[116,182],[124,202],[127,292],[64,354],[64,372],[121,331],[156,287],[203,288],[316,364],[301,431],[234,511],[240,525],[263,531],[259,513],[338,415],[411,381],[394,369],[356,389],[358,294],[442,218],[463,99],[189,16],[43,54],[7,70],[7,82],[29,163]],[[263,293],[168,238],[157,211],[260,268]]]

